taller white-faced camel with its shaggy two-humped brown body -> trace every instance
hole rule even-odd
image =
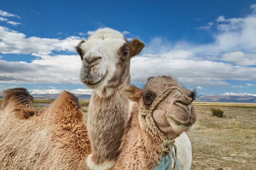
[[[0,126],[4,129],[0,130],[0,167],[111,169],[119,156],[128,120],[129,99],[123,89],[130,84],[130,59],[144,46],[137,39],[128,42],[110,28],[99,29],[87,42],[76,46],[83,63],[81,81],[93,88],[87,127],[77,98],[67,91],[40,112],[32,108],[33,98],[26,89],[5,91],[0,110]],[[183,134],[177,138],[180,142],[175,139],[177,152],[186,151],[185,156],[178,153],[181,164],[184,157],[192,156],[189,139]]]

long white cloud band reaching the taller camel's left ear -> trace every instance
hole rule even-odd
[[[54,38],[29,37],[18,31],[0,26],[0,53],[3,54],[51,54],[52,51],[75,51],[80,37]]]

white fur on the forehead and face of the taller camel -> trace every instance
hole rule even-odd
[[[125,38],[120,32],[111,28],[99,28],[88,40],[81,44],[80,48],[84,51],[85,59],[90,60],[94,54],[99,54],[102,57],[102,61],[99,63],[99,69],[97,72],[101,75],[106,74],[101,87],[97,87],[94,91],[99,96],[103,96],[102,92],[105,86],[108,85],[108,81],[113,77],[116,71],[116,64],[119,61],[119,54],[117,53],[120,47],[125,43]],[[83,67],[82,67],[83,68]],[[81,74],[84,74],[84,70],[81,70]],[[82,75],[82,77],[84,77]],[[113,90],[107,89],[107,96],[113,94]]]

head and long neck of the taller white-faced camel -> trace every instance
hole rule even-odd
[[[144,46],[140,40],[128,42],[120,32],[103,28],[76,47],[83,63],[81,81],[93,88],[87,119],[91,170],[107,170],[116,164],[128,120],[129,99],[123,89],[130,84],[130,59]]]

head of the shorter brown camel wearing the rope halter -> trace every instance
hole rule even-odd
[[[195,90],[189,91],[180,87],[172,77],[158,76],[149,77],[143,89],[130,85],[124,91],[129,99],[138,102],[140,108],[147,110],[168,89],[172,91],[154,109],[153,119],[166,136],[173,136],[173,133],[180,135],[191,130],[197,121],[197,112],[192,105],[196,96]]]

